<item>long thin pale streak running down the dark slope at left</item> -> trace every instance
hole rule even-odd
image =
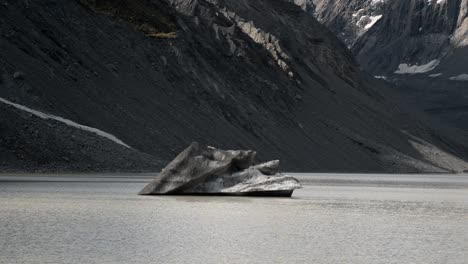
[[[101,136],[101,137],[104,137],[104,138],[107,138],[109,140],[112,140],[114,141],[115,143],[119,144],[119,145],[122,145],[126,148],[130,148],[129,145],[125,144],[122,140],[118,139],[117,137],[115,137],[114,135],[111,135],[109,133],[106,133],[102,130],[99,130],[97,128],[93,128],[93,127],[89,127],[89,126],[85,126],[85,125],[81,125],[81,124],[78,124],[78,123],[75,123],[71,120],[68,120],[68,119],[65,119],[63,117],[60,117],[60,116],[54,116],[54,115],[50,115],[50,114],[46,114],[46,113],[43,113],[43,112],[40,112],[40,111],[37,111],[37,110],[34,110],[34,109],[31,109],[31,108],[28,108],[26,106],[22,106],[22,105],[19,105],[19,104],[16,104],[16,103],[13,103],[11,101],[8,101],[6,99],[3,99],[0,97],[0,102],[4,103],[4,104],[7,104],[7,105],[11,105],[13,107],[15,107],[16,109],[19,109],[19,110],[22,110],[22,111],[25,111],[25,112],[28,112],[30,114],[33,114],[37,117],[40,117],[42,119],[52,119],[52,120],[55,120],[55,121],[58,121],[58,122],[61,122],[61,123],[64,123],[68,126],[71,126],[71,127],[75,127],[75,128],[78,128],[78,129],[81,129],[81,130],[84,130],[84,131],[87,131],[87,132],[91,132],[91,133],[94,133],[98,136]]]

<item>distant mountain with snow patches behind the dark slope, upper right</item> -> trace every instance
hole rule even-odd
[[[372,12],[377,3],[352,2],[316,1],[321,8],[315,15],[373,76],[392,82],[410,104],[468,132],[468,1],[378,1],[373,15],[380,19],[354,38],[343,37],[349,29],[342,25],[355,27],[353,15]]]

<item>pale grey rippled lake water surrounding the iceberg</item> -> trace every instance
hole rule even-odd
[[[0,263],[468,263],[468,175],[290,174],[292,198],[0,175]]]

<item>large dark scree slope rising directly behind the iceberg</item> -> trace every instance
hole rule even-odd
[[[465,170],[467,136],[301,2],[1,0],[0,169],[155,171],[198,141],[293,171]]]

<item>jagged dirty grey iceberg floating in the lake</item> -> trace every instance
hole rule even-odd
[[[192,143],[139,194],[290,197],[301,188],[295,178],[278,173],[278,160],[253,165],[255,154]]]

